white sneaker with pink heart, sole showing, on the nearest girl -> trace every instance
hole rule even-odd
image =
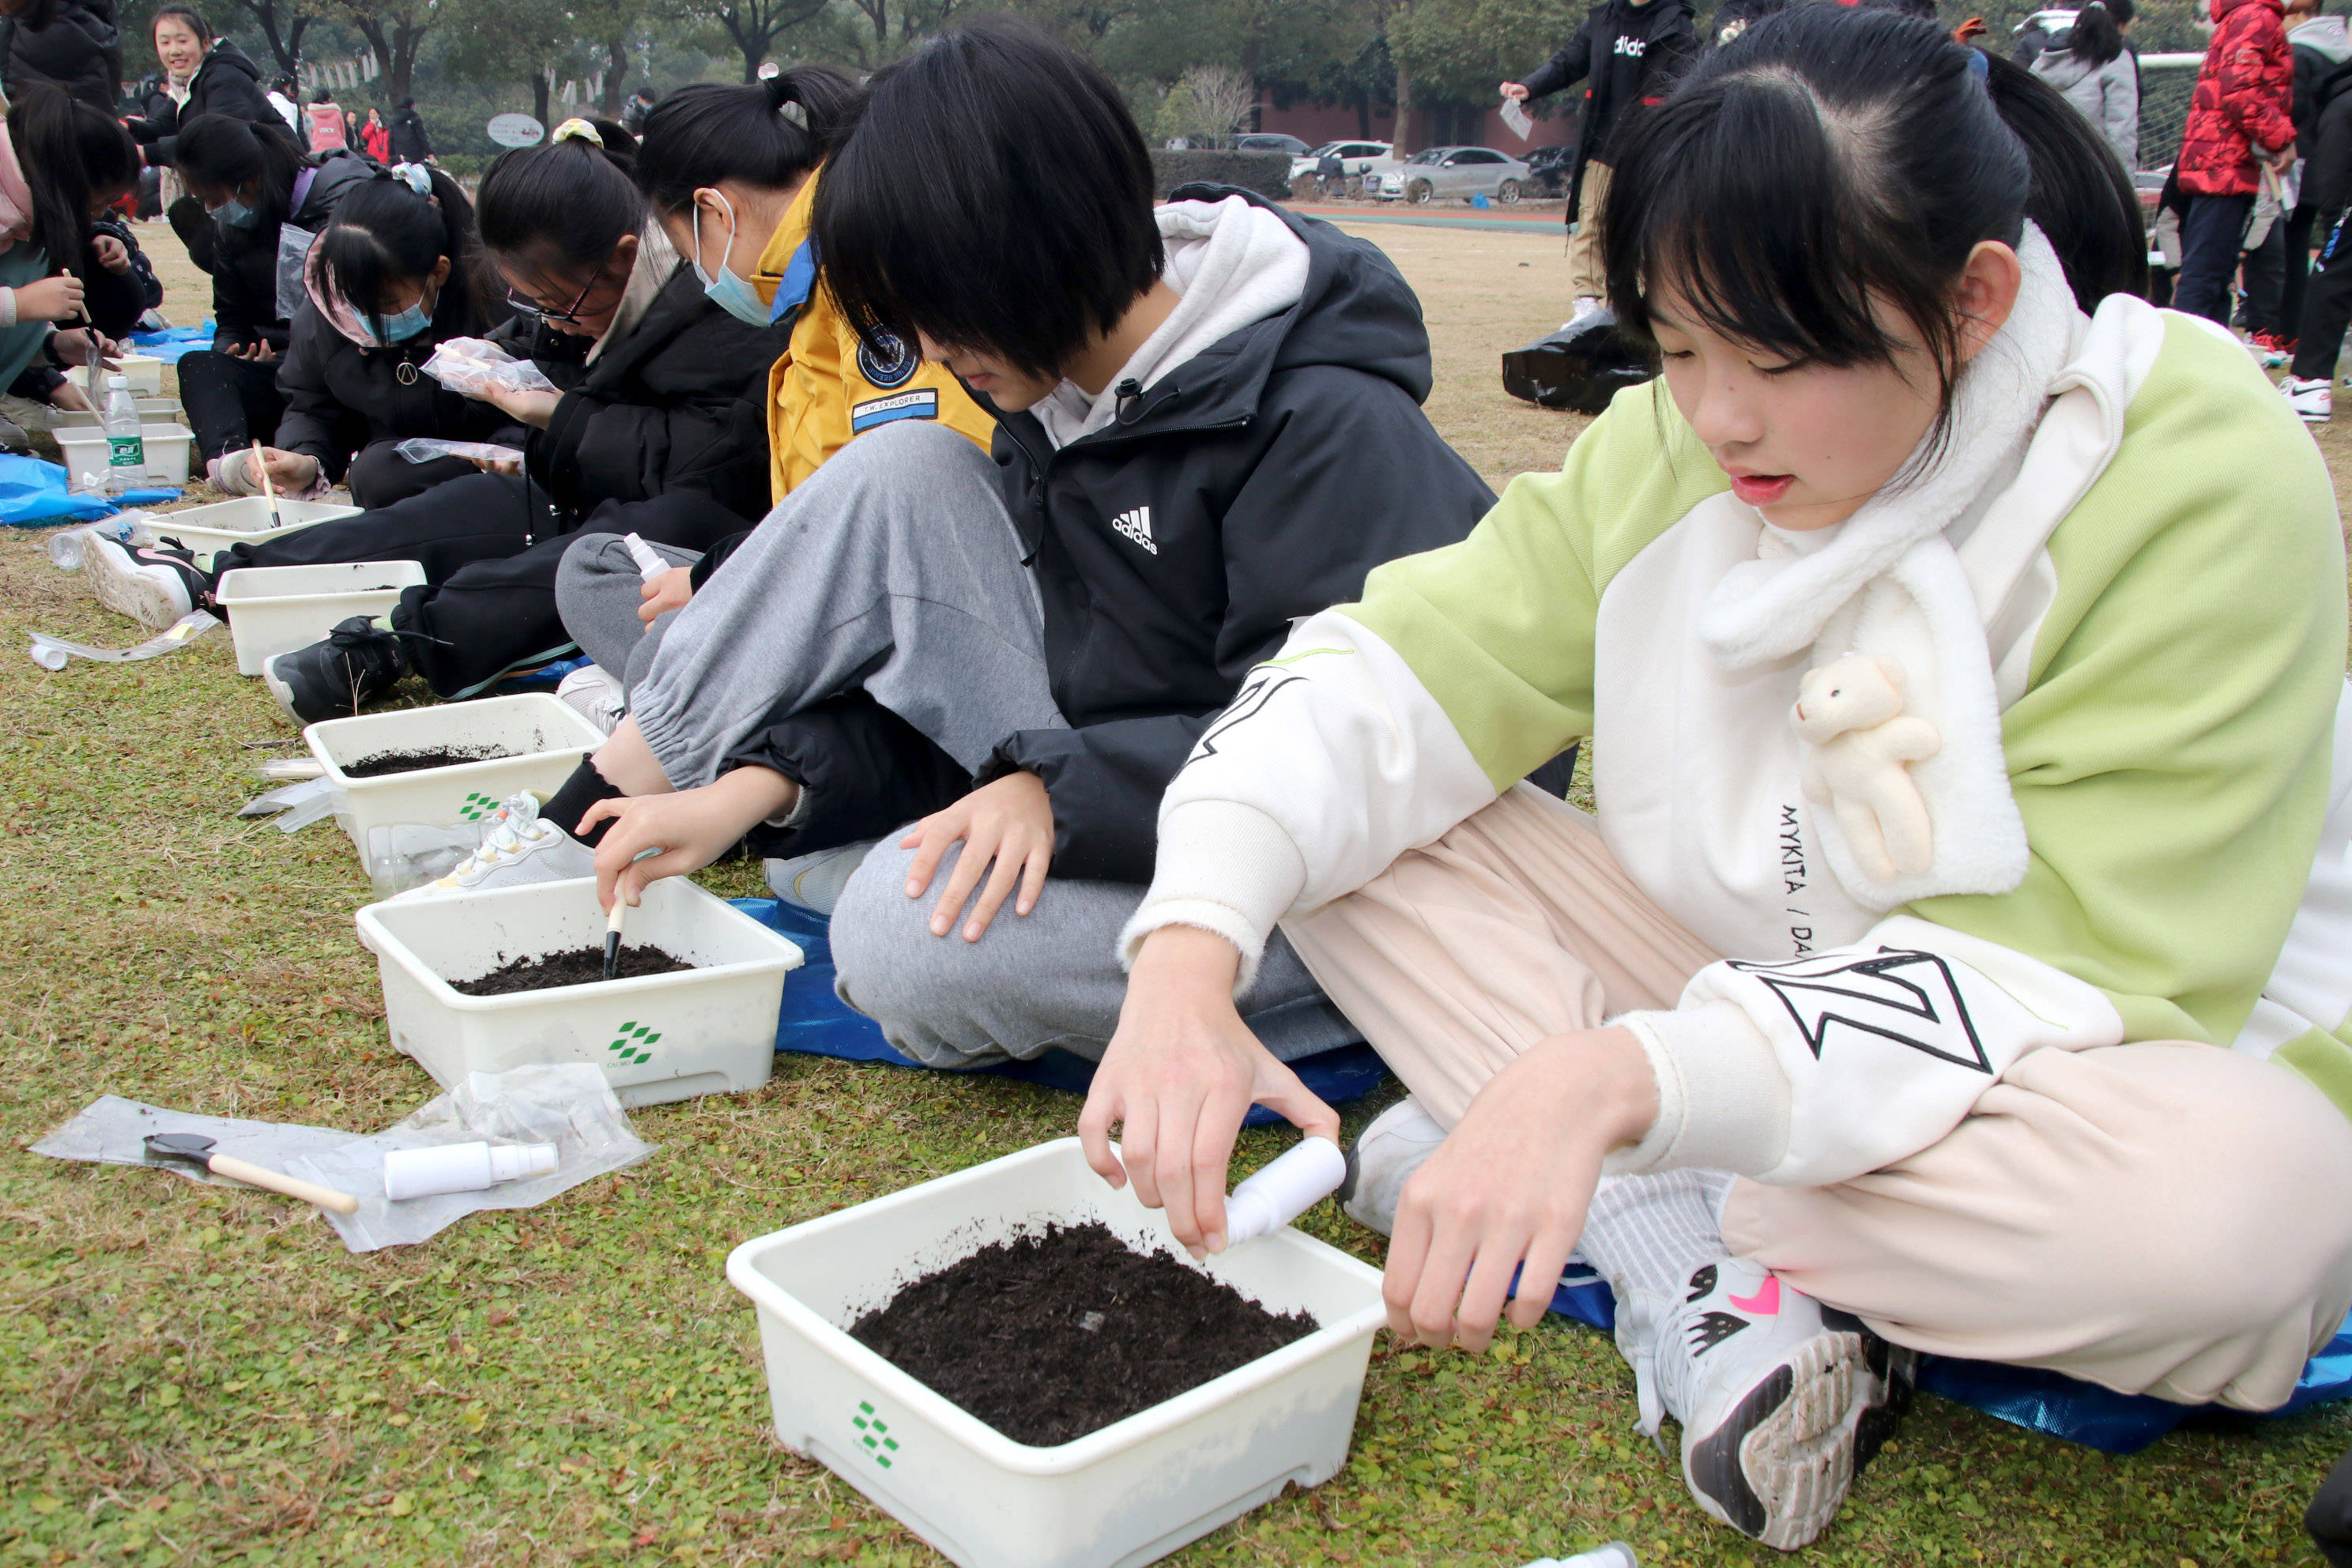
[[[1778,1552],[1820,1535],[1910,1403],[1917,1354],[1757,1262],[1722,1258],[1679,1300],[1618,1298],[1642,1432],[1682,1422],[1682,1479]],[[1661,1443],[1663,1446],[1663,1443]]]

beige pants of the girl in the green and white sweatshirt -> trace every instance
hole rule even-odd
[[[1715,957],[1526,785],[1284,931],[1444,1126]],[[1724,1241],[1898,1345],[2267,1410],[2352,1305],[2352,1124],[2204,1044],[2037,1051],[1884,1171],[1736,1182]]]

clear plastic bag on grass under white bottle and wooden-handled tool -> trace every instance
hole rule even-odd
[[[475,1208],[534,1208],[567,1187],[633,1166],[654,1152],[654,1145],[630,1131],[612,1084],[588,1063],[475,1072],[454,1091],[437,1095],[414,1117],[374,1138],[353,1138],[327,1126],[292,1121],[198,1117],[103,1095],[35,1143],[33,1152],[108,1166],[155,1166],[212,1187],[240,1185],[181,1161],[151,1161],[143,1143],[151,1133],[198,1133],[212,1138],[221,1154],[348,1192],[360,1199],[358,1213],[329,1213],[327,1222],[353,1253],[423,1241]],[[555,1173],[501,1182],[485,1192],[447,1192],[405,1204],[383,1197],[383,1154],[388,1150],[482,1140],[553,1143]]]

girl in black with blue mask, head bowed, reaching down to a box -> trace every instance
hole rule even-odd
[[[294,343],[278,364],[287,400],[278,437],[261,461],[280,496],[350,487],[365,508],[393,505],[480,465],[442,456],[402,458],[409,437],[522,447],[524,433],[494,404],[452,393],[421,364],[447,339],[482,336],[489,320],[475,303],[473,202],[447,174],[416,174],[360,186],[310,247],[294,315]],[[365,301],[365,303],[355,303]],[[489,320],[485,320],[489,317]],[[249,454],[223,454],[223,489],[259,494]]]

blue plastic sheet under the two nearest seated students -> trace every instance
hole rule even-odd
[[[826,917],[788,905],[776,898],[736,898],[734,905],[771,931],[781,931],[807,954],[807,964],[783,980],[783,1013],[776,1023],[776,1048],[809,1056],[840,1056],[854,1063],[889,1063],[894,1067],[922,1067],[882,1039],[873,1018],[854,1013],[833,994],[833,947],[826,940]],[[1352,1100],[1376,1088],[1388,1070],[1369,1046],[1345,1046],[1291,1063],[1298,1077],[1324,1103]],[[1002,1077],[1047,1084],[1084,1093],[1094,1077],[1094,1063],[1049,1053],[1037,1063],[1009,1063],[988,1067]],[[1277,1117],[1265,1107],[1254,1107],[1251,1126],[1265,1126]],[[1616,1328],[1616,1295],[1609,1284],[1588,1267],[1571,1267],[1552,1293],[1552,1312],[1571,1316],[1592,1328]],[[1919,1363],[1919,1387],[1955,1403],[1971,1406],[2018,1427],[2030,1427],[2049,1436],[2084,1443],[2105,1453],[2138,1453],[2159,1436],[2178,1427],[2199,1408],[2176,1406],[2147,1394],[2114,1394],[2091,1382],[2077,1382],[2063,1373],[2046,1373],[2025,1366],[2002,1366],[1997,1361],[1957,1361],[1952,1356],[1926,1356]],[[2352,1319],[2336,1338],[2303,1368],[2296,1396],[2270,1415],[2293,1415],[2314,1403],[2352,1396]]]

